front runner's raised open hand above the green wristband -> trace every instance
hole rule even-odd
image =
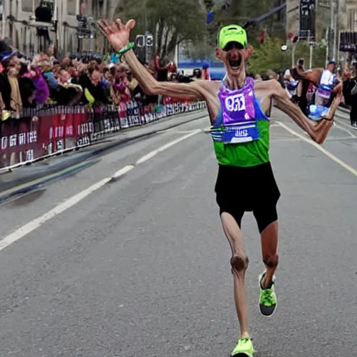
[[[112,24],[107,20],[100,20],[98,26],[114,49],[120,51],[129,43],[130,31],[135,26],[135,20],[129,20],[125,25],[120,19],[116,19]]]

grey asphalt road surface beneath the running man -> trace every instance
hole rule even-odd
[[[257,227],[251,214],[243,218],[257,356],[355,356],[357,132],[337,122],[323,153],[279,126],[301,133],[286,116],[274,118],[271,160],[282,197],[279,305],[271,318],[257,305]],[[230,250],[204,131],[45,215],[206,126],[202,119],[135,142],[0,207],[1,238],[32,222],[0,250],[1,357],[229,356],[238,331]],[[47,221],[36,227],[41,215]]]

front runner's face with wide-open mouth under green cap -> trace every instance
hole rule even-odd
[[[225,63],[229,75],[236,77],[244,70],[245,52],[240,43],[230,42],[224,49],[218,48],[216,55]]]

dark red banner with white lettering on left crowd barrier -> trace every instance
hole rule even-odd
[[[170,98],[164,102],[154,109],[137,102],[119,107],[24,109],[20,119],[0,123],[0,168],[89,145],[112,132],[206,107],[205,102],[175,102]]]

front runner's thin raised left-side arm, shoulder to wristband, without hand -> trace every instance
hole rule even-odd
[[[124,59],[135,78],[142,86],[144,92],[150,96],[169,96],[182,100],[192,100],[203,98],[199,91],[199,84],[191,82],[189,84],[173,83],[173,82],[158,82],[146,68],[139,62],[134,51],[129,50],[124,55]]]

